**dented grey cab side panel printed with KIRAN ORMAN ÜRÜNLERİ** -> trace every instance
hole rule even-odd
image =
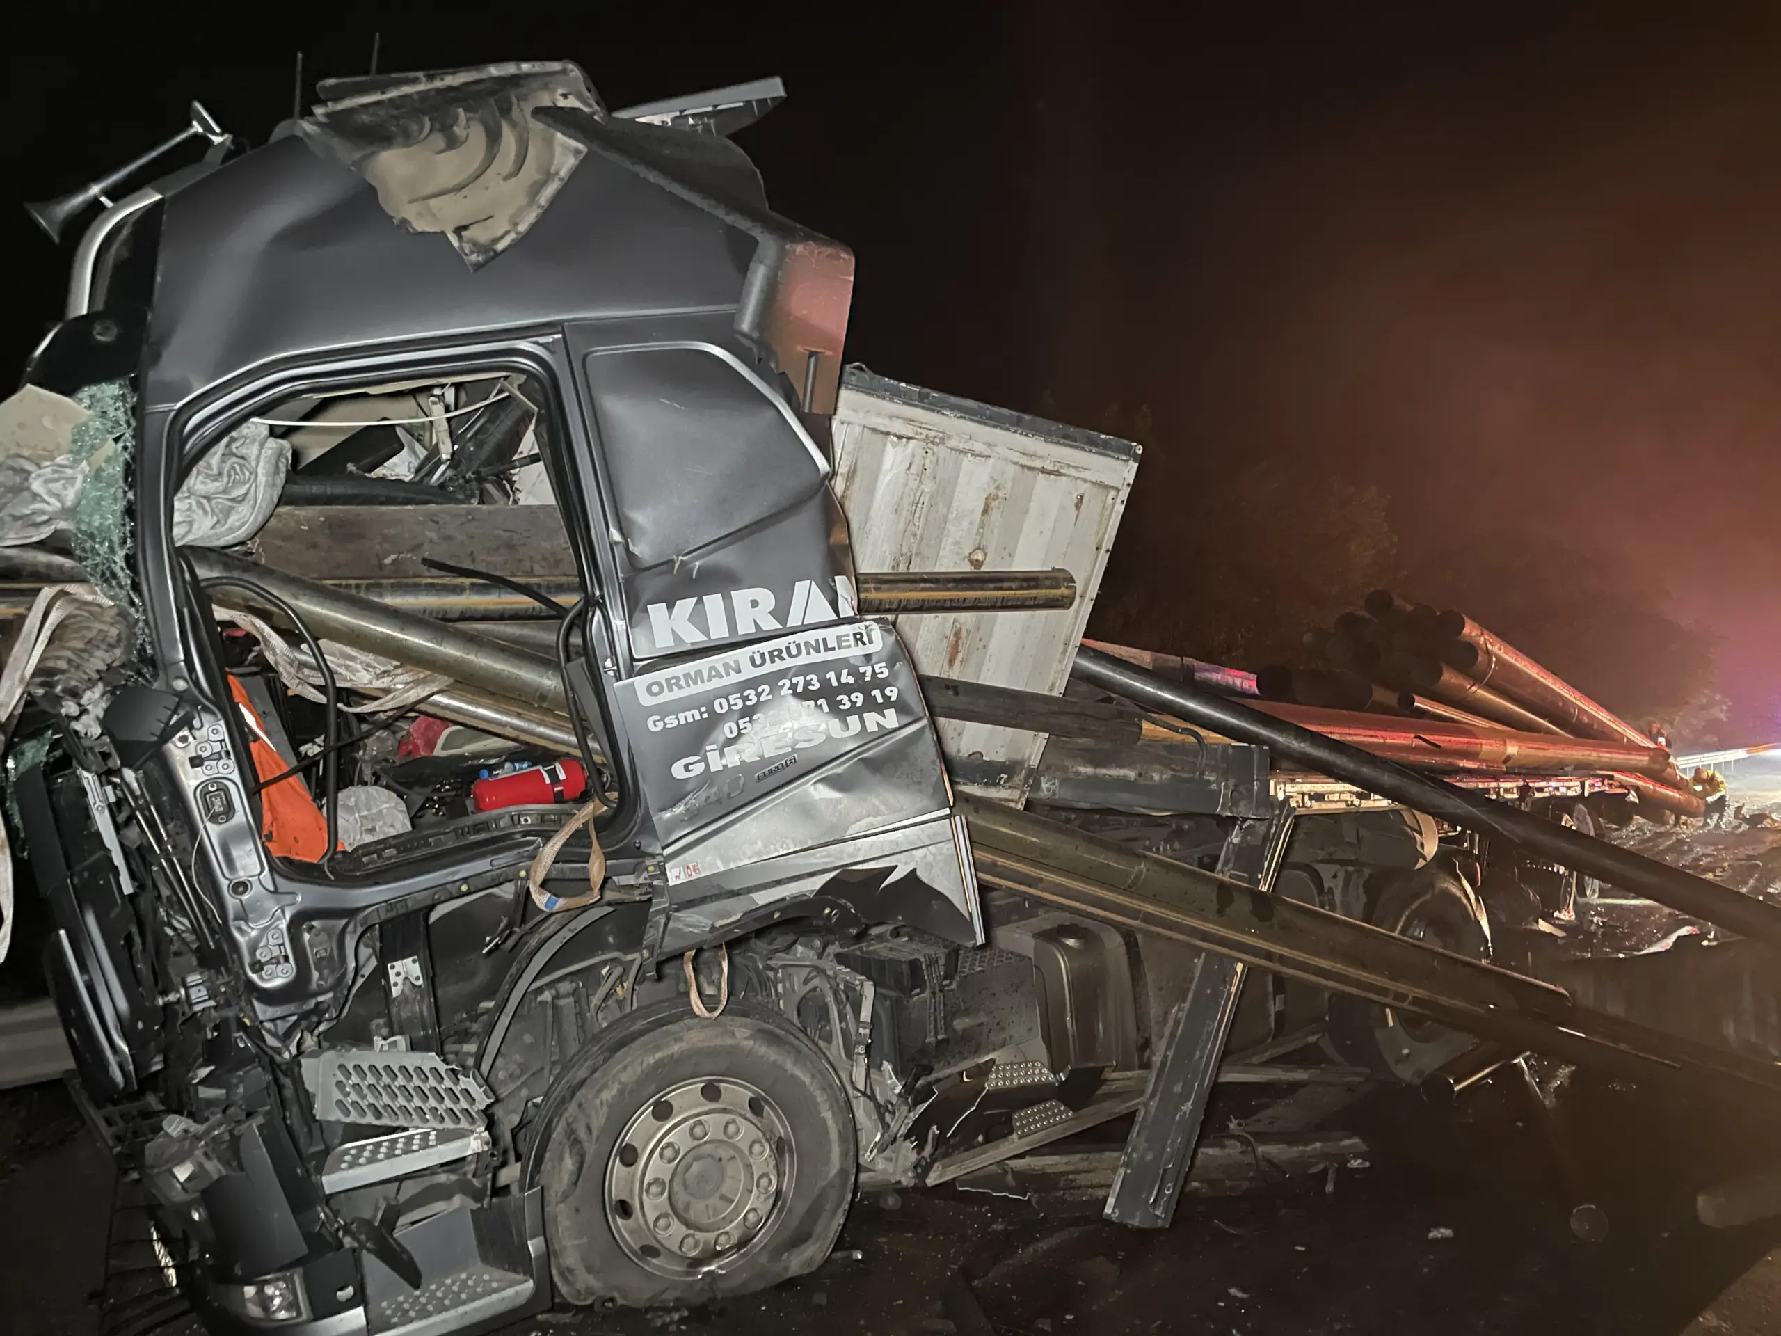
[[[727,314],[568,342],[623,602],[614,705],[675,907],[775,876],[787,891],[746,894],[782,898],[846,866],[842,841],[926,821],[974,935],[939,743],[896,632],[857,616],[830,463],[789,387]],[[819,846],[841,862],[785,864]],[[930,859],[873,857],[885,875]]]

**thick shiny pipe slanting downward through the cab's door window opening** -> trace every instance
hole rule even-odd
[[[566,709],[563,675],[556,659],[500,645],[468,631],[447,629],[417,613],[224,552],[192,547],[185,549],[185,556],[199,579],[235,575],[264,584],[303,615],[317,639],[333,639],[413,668],[443,673],[463,686],[525,705],[543,705],[557,713]],[[232,591],[230,597],[258,604],[248,590],[239,595]]]

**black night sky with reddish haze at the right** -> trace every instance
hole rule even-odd
[[[1708,623],[1781,736],[1781,7],[593,11],[87,20],[11,46],[7,180],[68,189],[194,96],[260,143],[296,52],[313,89],[374,29],[383,69],[568,57],[614,107],[778,73],[741,141],[857,251],[851,358],[1076,420],[1147,403],[1140,486],[1183,513],[1195,470],[1277,458],[1386,492],[1409,558],[1562,534]],[[4,226],[18,365],[71,244]]]

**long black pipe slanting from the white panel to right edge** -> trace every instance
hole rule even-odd
[[[1640,857],[1631,850],[1580,835],[1576,830],[1468,793],[1430,775],[1418,775],[1384,757],[1370,755],[1334,737],[1323,737],[1289,720],[1272,718],[1259,709],[1216,697],[1190,682],[1165,682],[1094,650],[1078,652],[1074,672],[1081,680],[1147,709],[1174,714],[1238,743],[1266,746],[1275,757],[1320,775],[1452,821],[1462,830],[1492,835],[1537,859],[1573,868],[1622,891],[1781,948],[1781,907],[1753,900],[1717,882]]]

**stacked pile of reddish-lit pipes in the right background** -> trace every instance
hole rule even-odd
[[[1642,803],[1704,812],[1669,752],[1464,613],[1375,590],[1305,648],[1325,666],[1263,668],[1263,709],[1412,766],[1601,773]]]

